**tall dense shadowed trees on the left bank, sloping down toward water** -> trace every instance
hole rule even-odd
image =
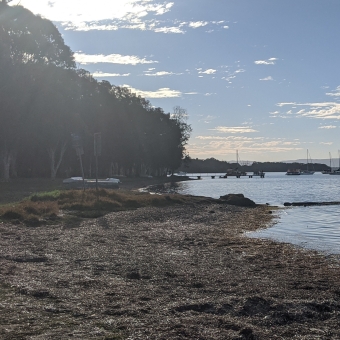
[[[80,137],[86,176],[94,174],[94,133],[101,133],[102,176],[162,175],[185,156],[191,128],[173,114],[77,69],[49,20],[0,2],[1,176],[79,175],[71,134]]]

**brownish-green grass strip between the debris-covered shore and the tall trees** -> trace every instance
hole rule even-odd
[[[29,222],[30,224],[54,222],[60,211],[78,218],[97,218],[109,212],[137,209],[140,207],[164,207],[184,203],[181,195],[151,195],[131,191],[107,189],[53,190],[31,195],[19,203],[0,207],[3,220]],[[33,223],[34,222],[34,223]],[[74,223],[75,222],[75,223]],[[73,221],[72,225],[79,221]]]

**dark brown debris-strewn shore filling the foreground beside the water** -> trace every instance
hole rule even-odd
[[[1,223],[0,338],[340,339],[339,263],[244,236],[273,215],[202,198]]]

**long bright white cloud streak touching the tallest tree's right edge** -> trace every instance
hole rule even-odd
[[[137,64],[154,64],[158,61],[147,60],[145,58],[139,58],[137,56],[121,55],[121,54],[84,54],[75,53],[75,61],[82,64],[98,64],[98,63],[108,63],[108,64],[123,64],[123,65],[137,65]]]

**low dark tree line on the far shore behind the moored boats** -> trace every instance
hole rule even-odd
[[[330,167],[325,164],[309,163],[309,170],[323,171]],[[219,161],[215,158],[208,159],[187,159],[180,166],[179,171],[188,173],[226,173],[228,169],[238,169],[245,172],[266,171],[266,172],[286,172],[288,169],[307,170],[307,164],[284,163],[284,162],[253,162],[250,165],[240,165]]]

